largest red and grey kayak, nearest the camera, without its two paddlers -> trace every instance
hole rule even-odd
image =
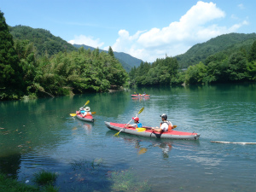
[[[164,132],[156,132],[151,129],[144,129],[145,131],[139,131],[139,129],[135,128],[125,128],[125,124],[117,124],[105,121],[105,125],[111,130],[125,132],[131,135],[143,136],[143,137],[155,137],[155,138],[171,138],[171,139],[190,139],[197,140],[200,137],[199,133],[195,132],[182,132],[182,131],[164,131]]]

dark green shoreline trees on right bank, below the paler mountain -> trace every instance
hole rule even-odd
[[[166,56],[151,64],[142,62],[139,67],[131,69],[129,76],[131,84],[138,86],[255,82],[256,41],[248,51],[221,51],[186,70],[178,67],[175,57]]]

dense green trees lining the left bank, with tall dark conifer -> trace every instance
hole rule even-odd
[[[38,55],[29,40],[13,39],[0,11],[0,77],[0,100],[11,100],[108,91],[126,84],[128,74],[111,47]]]

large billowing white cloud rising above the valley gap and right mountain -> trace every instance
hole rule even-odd
[[[223,10],[215,3],[199,1],[180,20],[169,26],[152,28],[130,35],[125,30],[119,31],[119,38],[113,44],[113,51],[125,52],[143,61],[155,61],[183,54],[194,44],[202,43],[221,34],[236,32],[238,28],[247,25],[247,21],[227,27],[212,24],[214,20],[225,17]],[[211,24],[210,24],[211,23]]]

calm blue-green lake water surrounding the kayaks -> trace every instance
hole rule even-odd
[[[131,168],[138,181],[149,181],[152,191],[215,192],[218,186],[220,191],[251,192],[256,188],[255,146],[211,141],[255,142],[255,90],[255,84],[158,87],[137,90],[150,94],[148,100],[132,99],[127,90],[0,102],[0,169],[21,182],[38,170],[58,172],[61,191],[75,186],[102,191],[104,185],[108,191],[113,183],[104,174]],[[70,117],[88,100],[96,111],[94,123]],[[113,137],[117,131],[104,125],[127,123],[143,107],[143,125],[159,126],[159,115],[167,113],[177,131],[200,132],[200,139],[161,140],[123,132]],[[97,177],[87,172],[94,160],[104,162],[95,170]],[[86,172],[72,166],[79,162],[86,162]]]

